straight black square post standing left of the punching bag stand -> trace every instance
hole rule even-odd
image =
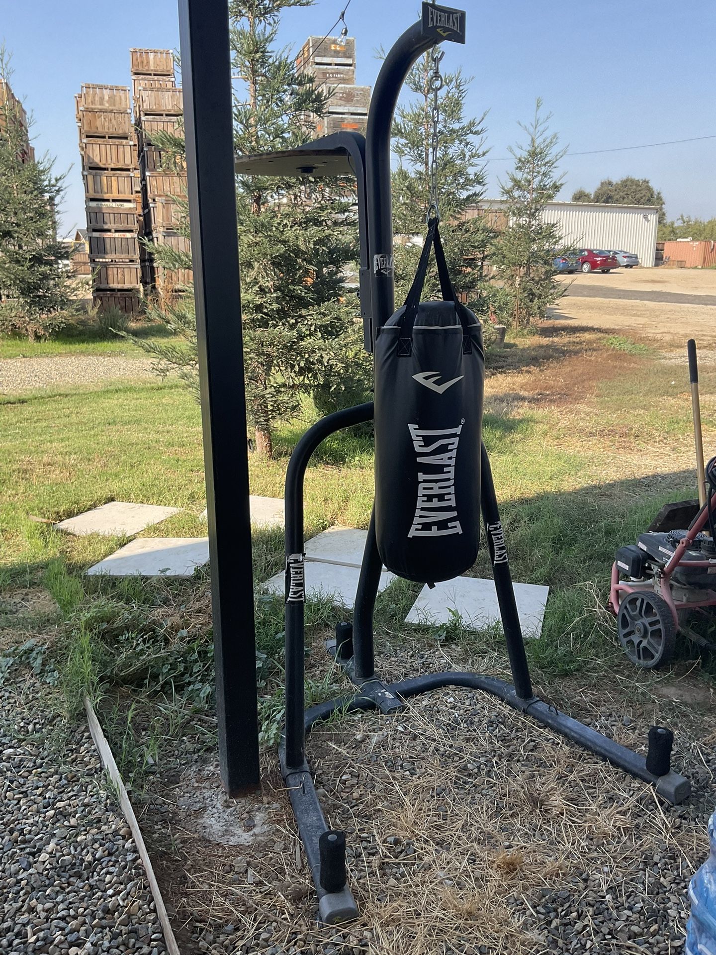
[[[221,781],[260,784],[242,306],[226,0],[179,0]]]

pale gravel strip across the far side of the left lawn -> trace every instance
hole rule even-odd
[[[18,394],[51,385],[92,385],[117,378],[154,377],[151,358],[120,355],[48,355],[0,361],[0,394]]]

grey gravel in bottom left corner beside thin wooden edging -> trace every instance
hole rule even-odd
[[[137,847],[90,733],[74,732],[60,755],[46,738],[55,722],[0,688],[0,950],[163,955]]]

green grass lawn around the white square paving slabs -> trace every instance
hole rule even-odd
[[[626,363],[617,376],[608,371],[615,344],[603,338],[574,333],[559,349],[549,339],[520,339],[516,348],[495,356],[499,371],[487,382],[484,438],[514,576],[551,588],[542,637],[528,647],[546,680],[576,670],[585,679],[601,678],[605,668],[623,666],[614,622],[603,609],[614,552],[636,539],[664,501],[694,493],[685,371],[664,371],[658,355],[631,349],[628,343],[625,347],[622,340],[616,350]],[[587,352],[592,359],[596,355],[596,368],[603,358],[603,379],[583,393],[578,380],[571,396],[550,399],[563,388],[569,362],[579,362]],[[671,380],[674,385],[666,384]],[[536,383],[542,390],[535,390]],[[712,409],[715,374],[702,375],[702,391],[705,410]],[[314,419],[312,403],[306,401],[297,420],[277,428],[274,459],[250,457],[253,493],[283,496],[287,457]],[[716,433],[707,429],[705,437],[709,446]],[[3,616],[0,605],[0,634],[6,643],[10,631],[19,639],[60,623],[60,632],[69,635],[69,649],[62,652],[69,654],[66,669],[73,686],[95,689],[126,682],[126,669],[116,671],[117,653],[123,660],[132,653],[137,659],[154,659],[160,645],[168,670],[140,667],[141,686],[166,692],[169,672],[173,696],[184,688],[192,705],[208,705],[205,572],[183,582],[84,578],[87,566],[125,541],[77,539],[33,520],[61,520],[113,499],[129,500],[182,509],[144,536],[204,536],[206,525],[199,518],[205,503],[200,409],[193,396],[178,382],[165,381],[6,399],[0,404],[0,488],[0,600],[11,605],[13,595],[29,589],[49,591],[60,605],[59,610],[42,605],[34,617],[30,610],[19,618],[7,612]],[[333,435],[306,474],[306,536],[336,523],[367,526],[371,502],[370,439]],[[281,568],[281,532],[256,535],[254,564],[257,584]],[[490,576],[485,548],[473,572]],[[382,595],[378,640],[410,629],[403,617],[418,589],[396,582]],[[200,609],[195,612],[196,606]],[[259,600],[263,700],[274,716],[279,711],[282,615],[280,600]],[[338,612],[326,605],[309,608],[314,629],[337,619]],[[457,631],[478,651],[501,652],[494,628],[477,637],[459,626]],[[424,630],[412,630],[412,635],[425,639]],[[320,685],[314,689],[320,694]]]

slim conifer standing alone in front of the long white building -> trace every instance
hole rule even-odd
[[[565,291],[553,267],[563,240],[558,225],[543,217],[544,207],[554,202],[562,185],[558,163],[564,151],[557,148],[557,134],[549,132],[551,114],[543,117],[541,108],[537,99],[532,122],[519,124],[527,141],[511,147],[515,167],[500,182],[508,225],[493,256],[501,283],[495,292],[495,311],[516,328],[544,318],[546,308]]]

